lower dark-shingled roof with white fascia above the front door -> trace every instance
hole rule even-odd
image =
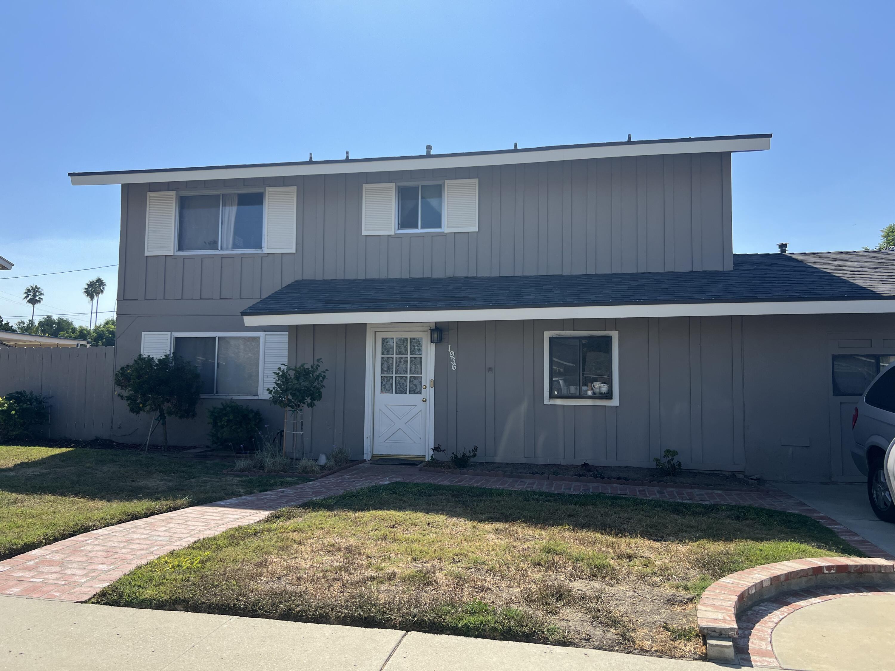
[[[895,312],[895,251],[736,255],[730,271],[296,280],[246,326]]]

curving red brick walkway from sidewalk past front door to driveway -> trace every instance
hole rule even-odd
[[[136,566],[146,564],[172,550],[185,548],[195,540],[213,536],[236,526],[258,522],[277,508],[300,505],[313,498],[333,496],[351,489],[396,481],[564,494],[616,494],[703,504],[757,505],[809,515],[836,531],[841,538],[848,540],[865,554],[891,558],[880,548],[876,548],[835,520],[776,489],[722,491],[493,478],[422,471],[408,466],[362,463],[327,478],[294,487],[232,498],[213,504],[196,505],[133,522],[124,522],[14,556],[0,562],[0,594],[86,601]]]

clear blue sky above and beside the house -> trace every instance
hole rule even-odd
[[[0,256],[117,261],[119,188],[68,171],[772,132],[733,161],[734,250],[853,250],[895,221],[895,4],[0,4]],[[86,312],[115,268],[0,279]],[[0,274],[0,278],[4,274]],[[81,319],[78,317],[77,319]],[[86,320],[86,315],[82,316]]]

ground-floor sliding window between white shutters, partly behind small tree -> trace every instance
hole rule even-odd
[[[199,369],[202,395],[259,395],[260,335],[175,334],[174,353]]]

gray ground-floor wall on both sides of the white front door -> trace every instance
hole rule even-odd
[[[479,461],[686,468],[771,480],[859,480],[848,454],[857,399],[834,397],[831,356],[895,353],[895,315],[575,319],[441,324],[435,442]],[[543,403],[546,330],[618,330],[619,404]],[[363,445],[363,325],[293,327],[297,361],[330,370],[307,413],[314,454]],[[868,344],[867,341],[870,341]],[[457,369],[447,365],[447,344]],[[866,345],[855,347],[856,343]]]

